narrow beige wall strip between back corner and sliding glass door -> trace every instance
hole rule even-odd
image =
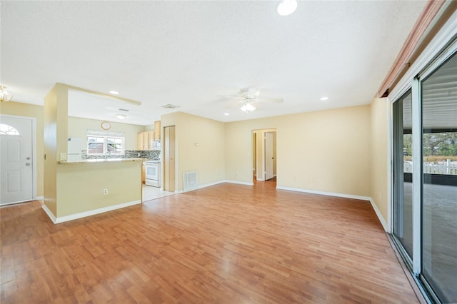
[[[388,141],[390,101],[375,98],[371,103],[371,198],[388,223]]]

